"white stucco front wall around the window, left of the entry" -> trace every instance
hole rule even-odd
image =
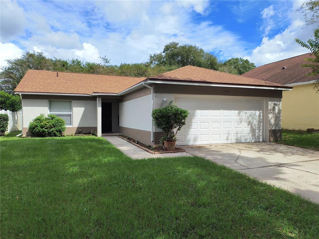
[[[57,96],[22,96],[23,135],[28,132],[29,123],[41,113],[49,113],[49,100],[72,101],[72,126],[67,126],[65,134],[76,134],[81,127],[82,133],[96,132],[96,98],[94,97],[57,97]]]

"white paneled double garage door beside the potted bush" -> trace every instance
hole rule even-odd
[[[176,95],[175,102],[190,112],[176,145],[262,141],[261,98]]]

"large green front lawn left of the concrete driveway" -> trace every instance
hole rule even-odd
[[[319,205],[204,158],[132,160],[93,136],[9,136],[1,238],[319,238]]]

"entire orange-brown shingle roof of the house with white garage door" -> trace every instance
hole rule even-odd
[[[185,66],[150,78],[28,70],[14,91],[19,93],[85,95],[92,93],[118,94],[138,83],[147,82],[147,80],[291,88],[216,70],[196,66]]]

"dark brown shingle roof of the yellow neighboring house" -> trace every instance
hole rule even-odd
[[[309,64],[309,62],[305,60],[306,58],[313,57],[314,56],[310,53],[294,56],[285,60],[256,67],[241,76],[283,85],[319,80],[319,75],[307,76],[312,72],[311,68],[301,66],[303,64]]]

